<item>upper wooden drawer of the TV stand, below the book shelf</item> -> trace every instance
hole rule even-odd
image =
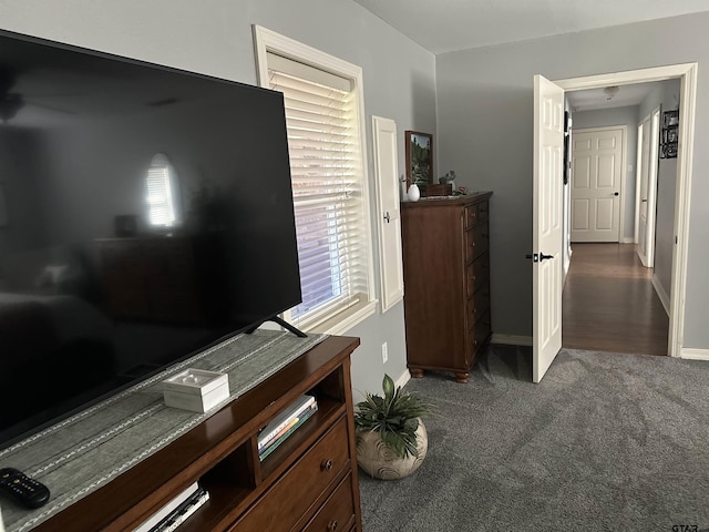
[[[290,530],[349,463],[347,420],[342,419],[232,530]]]

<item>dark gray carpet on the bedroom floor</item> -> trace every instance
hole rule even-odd
[[[470,383],[405,389],[429,453],[360,470],[364,532],[709,530],[709,362],[564,349],[534,385],[528,348],[491,346]]]

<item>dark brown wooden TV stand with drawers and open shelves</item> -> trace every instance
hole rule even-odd
[[[350,355],[329,337],[35,531],[132,531],[199,481],[210,495],[179,532],[361,531]],[[318,411],[263,462],[257,436],[300,395]]]

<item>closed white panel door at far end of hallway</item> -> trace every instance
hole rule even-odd
[[[572,139],[572,242],[619,242],[625,131],[575,130]]]

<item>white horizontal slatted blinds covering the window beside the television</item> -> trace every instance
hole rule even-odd
[[[284,93],[302,304],[294,324],[317,325],[367,300],[362,168],[351,81],[268,53],[270,88]]]

